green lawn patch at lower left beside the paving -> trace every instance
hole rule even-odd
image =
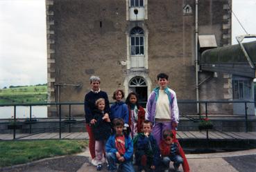
[[[0,167],[24,164],[46,157],[82,152],[85,140],[37,140],[0,142]]]

